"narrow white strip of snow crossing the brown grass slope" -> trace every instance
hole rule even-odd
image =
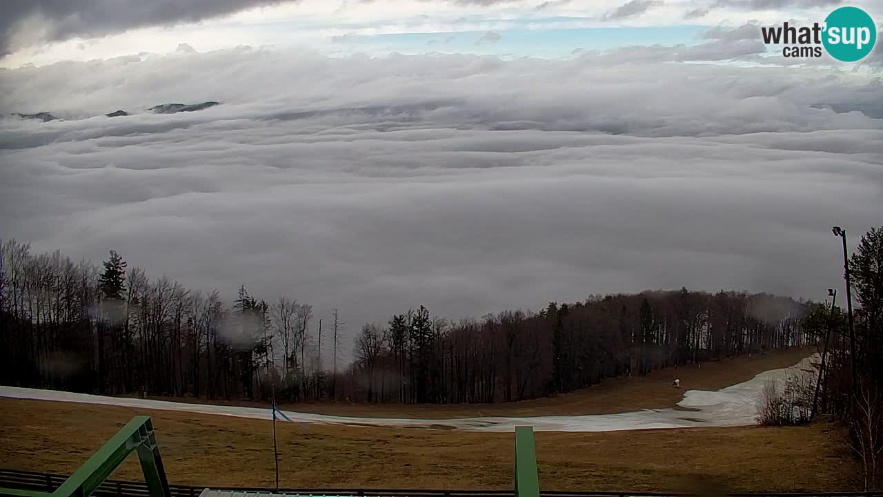
[[[750,380],[714,392],[688,390],[678,406],[683,409],[643,409],[619,414],[588,416],[537,417],[464,417],[456,419],[399,419],[389,417],[342,417],[283,411],[295,423],[359,424],[374,426],[457,429],[480,432],[511,432],[519,425],[532,425],[536,431],[547,432],[610,432],[615,430],[646,430],[652,428],[693,428],[711,426],[743,426],[755,424],[756,401],[769,380],[781,382],[789,372],[810,371],[818,355],[807,357],[789,368],[765,371]],[[674,386],[672,386],[674,388]],[[0,386],[0,397],[42,401],[85,402],[123,406],[136,409],[163,409],[216,414],[232,417],[271,419],[269,408],[248,408],[209,404],[188,404],[172,401],[104,397],[74,394],[56,390],[37,390]]]

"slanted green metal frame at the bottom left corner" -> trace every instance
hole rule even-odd
[[[35,492],[0,488],[0,495],[15,497],[88,497],[110,476],[125,458],[138,452],[141,470],[150,497],[171,497],[169,481],[162,467],[160,448],[156,443],[154,425],[148,416],[132,417],[122,430],[108,440],[98,452],[79,467],[71,478],[64,480],[55,492]]]

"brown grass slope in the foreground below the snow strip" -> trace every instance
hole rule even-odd
[[[700,383],[706,374],[707,383]],[[657,381],[668,383],[668,374],[659,376]],[[704,366],[693,377],[681,374],[680,378],[691,378],[688,387],[689,381],[736,383],[724,376],[723,371]],[[623,383],[640,388],[649,378],[623,378]],[[577,398],[571,405],[587,407],[592,405],[593,392],[602,393],[598,402],[619,398],[608,388],[565,397]],[[651,399],[668,401],[665,395]],[[68,473],[136,414],[153,417],[171,483],[273,486],[269,420],[70,402],[0,399],[0,467]],[[282,486],[512,487],[511,433],[283,423],[276,427]],[[538,432],[540,487],[684,492],[847,489],[854,486],[855,467],[836,441],[837,432],[836,425],[825,421],[792,428]],[[131,456],[113,478],[140,480],[136,458]]]

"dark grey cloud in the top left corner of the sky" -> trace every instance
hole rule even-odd
[[[0,57],[16,47],[12,36],[33,20],[42,41],[120,33],[135,27],[197,22],[264,5],[296,0],[5,0],[0,2]]]

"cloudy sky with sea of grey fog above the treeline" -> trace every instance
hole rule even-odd
[[[0,237],[353,330],[682,286],[822,299],[830,227],[883,225],[883,50],[795,65],[758,26],[834,4],[4,3],[0,112],[61,119],[0,119]]]

